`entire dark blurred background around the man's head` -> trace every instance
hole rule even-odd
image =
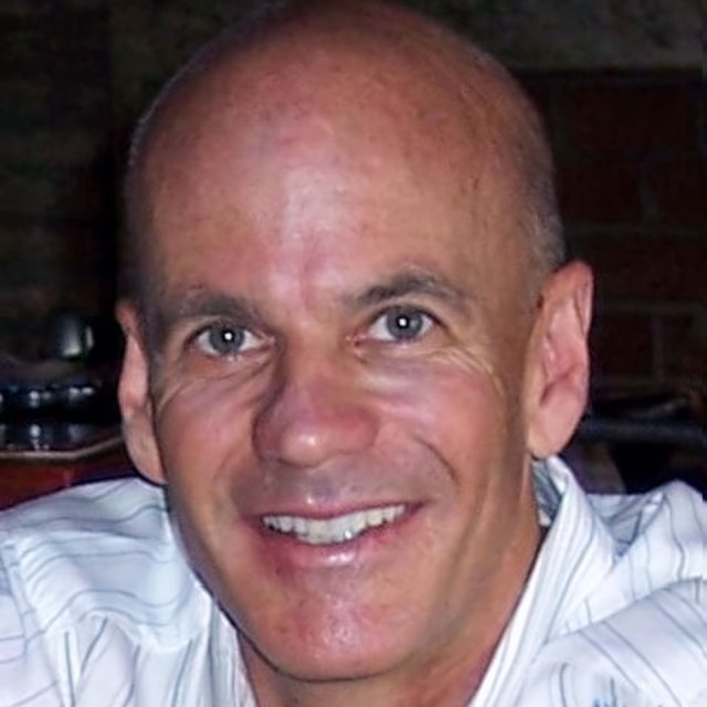
[[[67,453],[105,441],[96,430],[46,428],[13,437],[18,431],[8,426],[19,419],[56,421],[72,404],[72,423],[109,424],[115,434],[112,386],[120,342],[112,313],[131,126],[199,44],[257,4],[0,0],[0,449]],[[647,437],[653,446],[636,463],[641,468],[661,455],[663,466],[675,465],[678,444],[677,465],[701,483],[703,0],[409,4],[495,53],[545,116],[570,251],[598,275],[585,440],[619,435],[622,444],[627,439],[630,447],[645,447]],[[605,425],[613,422],[623,423],[623,432]],[[656,454],[663,433],[668,439]]]

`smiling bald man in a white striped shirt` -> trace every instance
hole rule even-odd
[[[298,4],[182,71],[118,313],[158,487],[8,516],[0,705],[707,704],[701,502],[590,503],[552,456],[591,274],[550,170],[507,74],[393,6]]]

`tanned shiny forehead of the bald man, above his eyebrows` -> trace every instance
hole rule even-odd
[[[424,62],[302,61],[226,62],[163,110],[140,180],[161,278],[251,257],[309,279],[327,264],[503,257],[514,178],[487,106]]]

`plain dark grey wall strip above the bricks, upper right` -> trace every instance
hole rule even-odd
[[[507,63],[550,71],[697,67],[703,0],[410,0]]]

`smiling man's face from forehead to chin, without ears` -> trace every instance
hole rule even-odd
[[[307,679],[490,651],[537,545],[503,169],[327,110],[168,136],[145,177],[144,471],[246,657]]]

